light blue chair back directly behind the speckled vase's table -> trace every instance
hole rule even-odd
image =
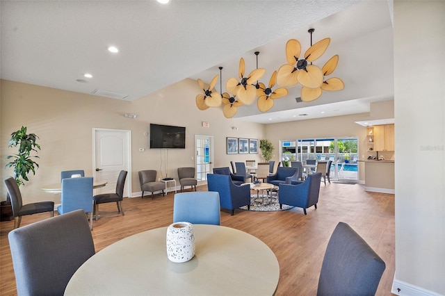
[[[175,194],[173,222],[220,225],[218,192],[182,192]]]

